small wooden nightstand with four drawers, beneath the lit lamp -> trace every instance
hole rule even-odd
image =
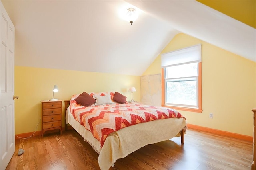
[[[62,113],[62,100],[58,101],[41,101],[42,111],[41,111],[41,135],[46,131],[52,131],[55,129],[61,130],[61,113]]]

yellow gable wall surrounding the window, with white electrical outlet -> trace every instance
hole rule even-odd
[[[202,44],[202,113],[180,111],[193,125],[252,136],[256,63],[180,33],[161,53]],[[161,73],[160,55],[144,72]],[[209,118],[213,113],[213,119]]]

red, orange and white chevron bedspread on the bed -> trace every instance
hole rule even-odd
[[[102,95],[104,94],[102,93]],[[70,112],[76,121],[92,132],[93,136],[100,141],[101,147],[104,145],[106,137],[119,129],[157,119],[173,117],[185,119],[174,109],[141,104],[115,103],[105,106],[92,104],[85,107],[76,103],[74,99],[77,96],[73,95],[70,100]]]

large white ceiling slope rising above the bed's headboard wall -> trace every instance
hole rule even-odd
[[[122,0],[2,1],[15,26],[15,65],[140,76],[178,33]]]

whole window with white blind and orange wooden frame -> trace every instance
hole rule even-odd
[[[164,53],[162,106],[202,113],[201,45]]]

